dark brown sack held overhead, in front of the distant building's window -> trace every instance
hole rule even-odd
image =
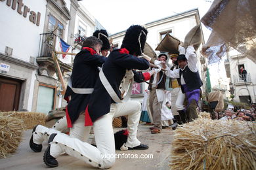
[[[161,52],[169,52],[171,54],[179,54],[179,44],[181,44],[181,41],[179,41],[179,39],[167,33],[165,37],[161,40],[160,44],[158,44],[158,46],[156,47],[156,50]]]

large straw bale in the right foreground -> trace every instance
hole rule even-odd
[[[256,124],[199,118],[175,131],[171,169],[256,169]]]

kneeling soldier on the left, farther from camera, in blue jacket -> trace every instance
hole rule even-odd
[[[72,98],[66,107],[66,117],[56,123],[55,126],[60,125],[58,128],[53,127],[49,129],[41,125],[33,128],[30,148],[34,152],[41,152],[43,141],[47,141],[51,133],[60,133],[57,130],[66,128],[67,124],[68,127],[72,127],[74,122],[79,124],[79,122],[84,121],[84,118],[82,119],[80,115],[84,116],[85,108],[89,103],[96,79],[98,78],[98,67],[101,67],[106,61],[104,56],[98,55],[100,54],[101,46],[102,41],[96,37],[88,37],[83,42],[81,52],[75,56],[74,67],[70,78],[71,82],[69,82],[65,93],[66,100],[68,100],[68,96]],[[85,130],[85,127],[81,129],[79,126],[74,126],[70,129],[70,136],[86,141],[91,126],[87,126],[86,128],[87,130]]]

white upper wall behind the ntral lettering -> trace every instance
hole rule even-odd
[[[30,61],[30,56],[37,56],[39,50],[39,34],[43,33],[45,22],[45,5],[47,1],[23,0],[30,11],[41,13],[40,25],[30,22],[30,14],[24,18],[22,14],[7,6],[7,1],[0,1],[0,52],[5,53],[5,46],[13,49],[14,58]],[[22,12],[24,7],[22,7]],[[4,26],[3,26],[4,25]]]

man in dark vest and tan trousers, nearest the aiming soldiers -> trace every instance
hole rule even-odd
[[[163,69],[166,68],[166,65],[163,64],[167,60],[166,54],[160,54],[158,56],[157,62],[155,61],[155,64],[158,63],[158,65],[161,65]],[[148,87],[148,90],[150,90],[149,95],[149,103],[150,103],[150,112],[153,117],[153,124],[154,127],[151,128],[151,133],[156,134],[161,132],[161,107],[163,105],[163,97],[165,92],[165,81],[166,81],[166,75],[163,73],[163,71],[160,71],[159,73],[156,73],[154,76],[150,78],[150,82],[152,85]]]

